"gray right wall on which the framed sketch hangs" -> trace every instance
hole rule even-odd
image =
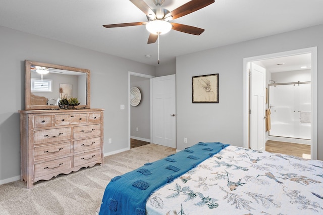
[[[318,25],[177,57],[177,149],[199,141],[243,146],[243,59],[317,46],[318,83],[323,83],[322,35],[323,25]],[[219,73],[220,102],[192,103],[192,76],[213,73]],[[323,110],[321,84],[318,110]],[[318,111],[318,159],[323,159],[322,128]]]

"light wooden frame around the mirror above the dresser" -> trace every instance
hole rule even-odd
[[[53,109],[60,109],[58,105],[35,105],[31,103],[31,86],[30,86],[30,77],[31,77],[31,70],[30,66],[40,66],[40,67],[48,67],[54,69],[61,69],[61,70],[69,70],[74,72],[81,72],[86,74],[86,104],[85,105],[78,105],[78,109],[89,109],[90,108],[90,70],[87,69],[80,69],[76,67],[68,67],[62,65],[55,65],[55,64],[47,64],[35,61],[28,61],[25,60],[25,109],[26,110],[53,110]]]

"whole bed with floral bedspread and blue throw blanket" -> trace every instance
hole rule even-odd
[[[200,142],[112,179],[99,214],[323,214],[322,182],[320,160]]]

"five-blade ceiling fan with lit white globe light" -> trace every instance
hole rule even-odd
[[[170,12],[165,8],[161,8],[161,5],[163,5],[164,1],[165,0],[152,0],[156,8],[151,9],[143,0],[130,0],[130,2],[132,2],[137,8],[139,8],[143,13],[146,14],[148,22],[120,23],[103,25],[103,27],[116,28],[135,25],[147,25],[146,28],[149,31],[149,27],[153,29],[153,25],[163,25],[166,26],[167,32],[173,29],[188,34],[200,35],[204,31],[204,29],[173,22],[170,23],[169,21],[175,20],[214,3],[214,0],[192,0]],[[150,35],[148,38],[148,44],[156,42],[158,34],[167,33],[166,31],[159,32],[158,30],[160,30],[160,28],[149,31]]]

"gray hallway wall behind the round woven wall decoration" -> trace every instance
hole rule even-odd
[[[130,135],[135,139],[150,140],[150,79],[132,75],[130,81],[130,86],[138,87],[141,92],[140,103],[130,106]]]

